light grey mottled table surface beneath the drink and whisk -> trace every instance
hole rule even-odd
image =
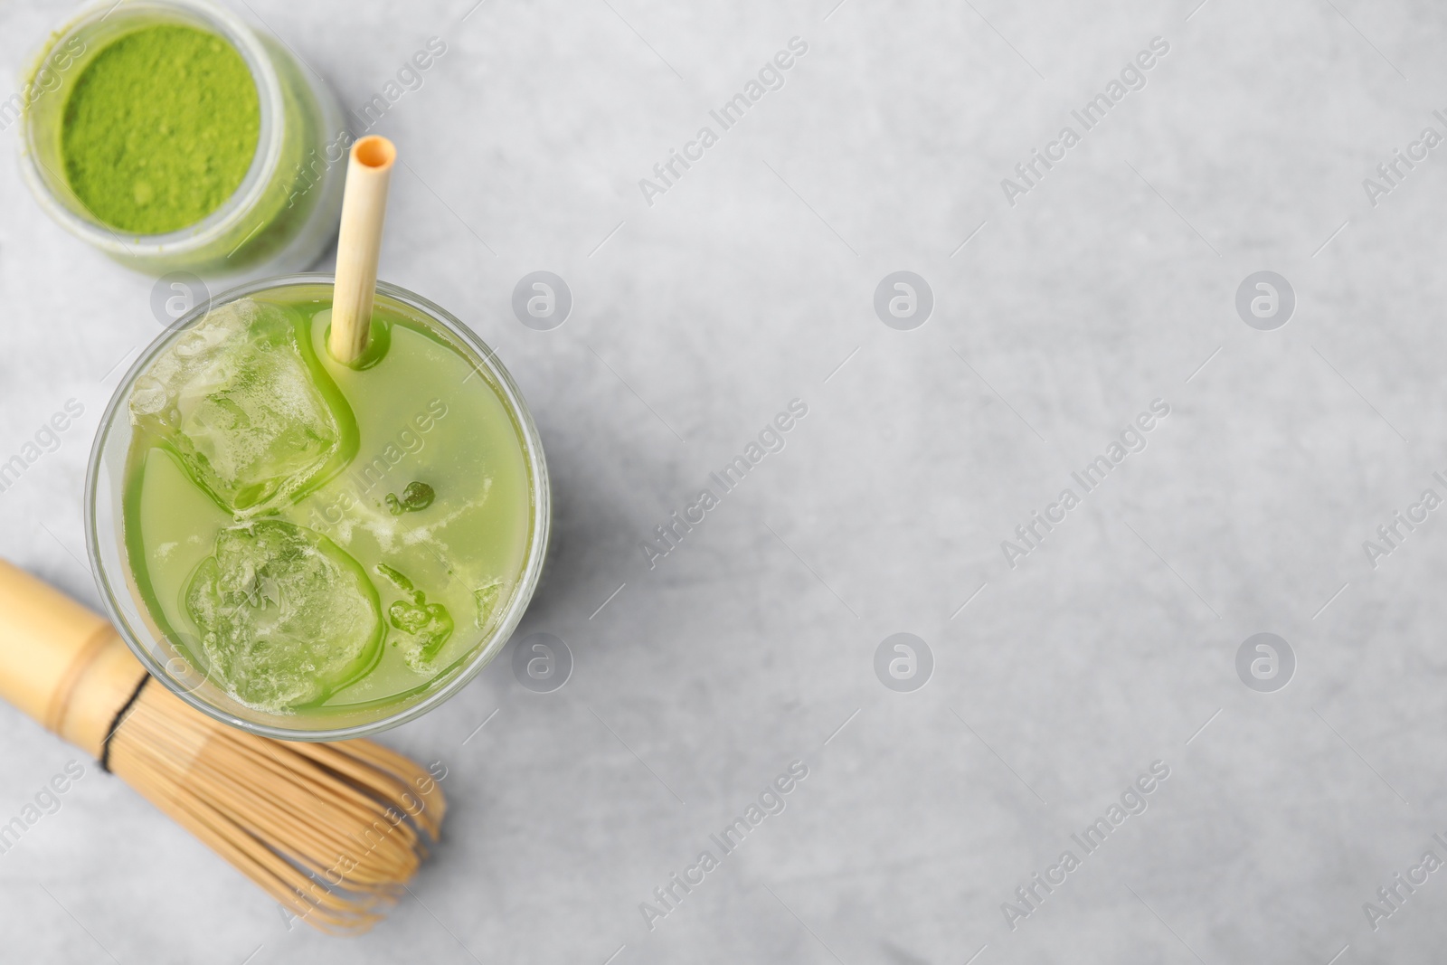
[[[1363,179],[1447,133],[1447,12],[835,1],[237,3],[349,107],[446,42],[378,126],[407,159],[382,276],[532,407],[556,545],[519,632],[576,667],[531,693],[509,650],[383,735],[443,762],[450,813],[357,939],[288,927],[0,707],[0,822],[87,765],[0,855],[0,959],[1443,959],[1447,872],[1363,909],[1447,858],[1443,514],[1363,543],[1447,496],[1444,149],[1375,205]],[[0,7],[4,77],[67,12]],[[650,205],[640,179],[794,36],[781,90]],[[1156,36],[1085,132],[1071,110]],[[1081,143],[1011,205],[1001,179],[1066,124]],[[153,279],[46,220],[0,137],[0,460],[84,407],[0,493],[0,556],[96,605],[82,475],[117,363],[159,333]],[[509,307],[538,269],[574,298],[551,331]],[[1297,305],[1262,331],[1236,292],[1268,269]],[[894,271],[933,292],[922,327],[875,314]],[[783,451],[650,569],[640,543],[796,398]],[[1155,399],[1146,449],[1011,567],[1001,541]],[[875,674],[896,632],[928,644],[923,689]],[[1289,644],[1285,689],[1239,676],[1256,632]],[[786,809],[645,920],[794,761]],[[1081,848],[1156,761],[1145,813]]]

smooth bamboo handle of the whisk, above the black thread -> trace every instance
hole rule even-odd
[[[0,697],[98,757],[145,673],[106,618],[0,560]]]

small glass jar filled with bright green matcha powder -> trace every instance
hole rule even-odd
[[[19,94],[22,171],[67,230],[149,273],[259,276],[330,243],[350,145],[326,84],[208,0],[103,0]]]

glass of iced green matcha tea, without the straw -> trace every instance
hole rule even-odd
[[[256,734],[370,734],[456,693],[537,586],[547,466],[512,378],[378,284],[363,357],[330,275],[232,289],[122,381],[91,453],[106,606],[161,681]]]

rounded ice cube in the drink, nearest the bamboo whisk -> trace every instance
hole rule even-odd
[[[221,530],[185,605],[211,679],[262,710],[324,700],[381,652],[382,608],[362,566],[281,519]]]

